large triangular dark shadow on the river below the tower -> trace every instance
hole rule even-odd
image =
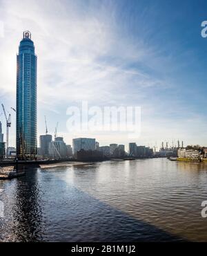
[[[56,175],[40,176],[39,180],[31,170],[17,181],[10,208],[10,237],[15,241],[186,241],[112,208]]]

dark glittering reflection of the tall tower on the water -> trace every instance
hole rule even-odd
[[[25,177],[8,181],[4,198],[5,226],[8,227],[4,240],[41,241],[43,233],[41,192],[37,170],[28,170]]]

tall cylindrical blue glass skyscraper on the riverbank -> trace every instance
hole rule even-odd
[[[37,157],[37,56],[29,31],[17,55],[17,158]]]

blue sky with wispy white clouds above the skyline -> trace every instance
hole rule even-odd
[[[138,145],[178,138],[207,145],[206,1],[0,0],[0,19],[0,100],[15,107],[16,54],[23,30],[30,30],[38,56],[39,134],[46,115],[49,132],[59,121],[66,143],[86,136],[68,132],[66,109],[88,100],[140,106]],[[13,145],[14,122],[12,113]],[[130,142],[122,133],[87,135],[101,145]]]

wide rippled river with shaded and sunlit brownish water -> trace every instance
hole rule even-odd
[[[206,181],[166,158],[31,169],[0,181],[0,241],[207,241]]]

